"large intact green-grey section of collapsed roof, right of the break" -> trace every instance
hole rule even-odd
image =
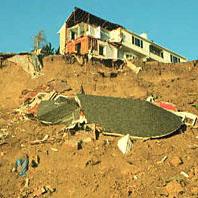
[[[156,138],[177,131],[181,119],[147,101],[78,95],[88,123],[98,124],[108,134]]]

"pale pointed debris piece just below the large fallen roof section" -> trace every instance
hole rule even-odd
[[[127,134],[118,140],[118,148],[123,154],[127,154],[132,149],[132,141],[130,139],[130,135]]]

